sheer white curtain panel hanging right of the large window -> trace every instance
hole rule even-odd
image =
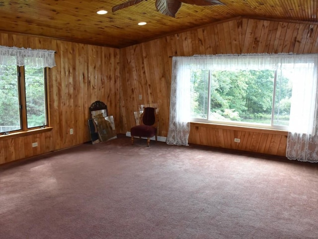
[[[294,69],[286,157],[318,162],[317,57]]]

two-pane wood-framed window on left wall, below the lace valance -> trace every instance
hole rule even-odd
[[[0,65],[0,134],[47,126],[46,68]]]

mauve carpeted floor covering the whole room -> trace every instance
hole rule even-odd
[[[119,136],[0,166],[0,239],[318,239],[318,166]]]

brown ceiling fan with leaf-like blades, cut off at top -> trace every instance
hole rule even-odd
[[[112,11],[117,11],[132,5],[135,5],[144,0],[129,0],[122,4],[115,5]],[[147,1],[147,0],[146,0]],[[182,3],[193,4],[198,6],[212,6],[212,5],[225,5],[218,0],[156,0],[156,8],[164,15],[175,17],[175,14],[181,7]]]

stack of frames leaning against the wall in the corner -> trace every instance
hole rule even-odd
[[[92,144],[117,138],[113,116],[108,116],[107,106],[101,101],[95,101],[89,107],[91,119],[88,128]]]

